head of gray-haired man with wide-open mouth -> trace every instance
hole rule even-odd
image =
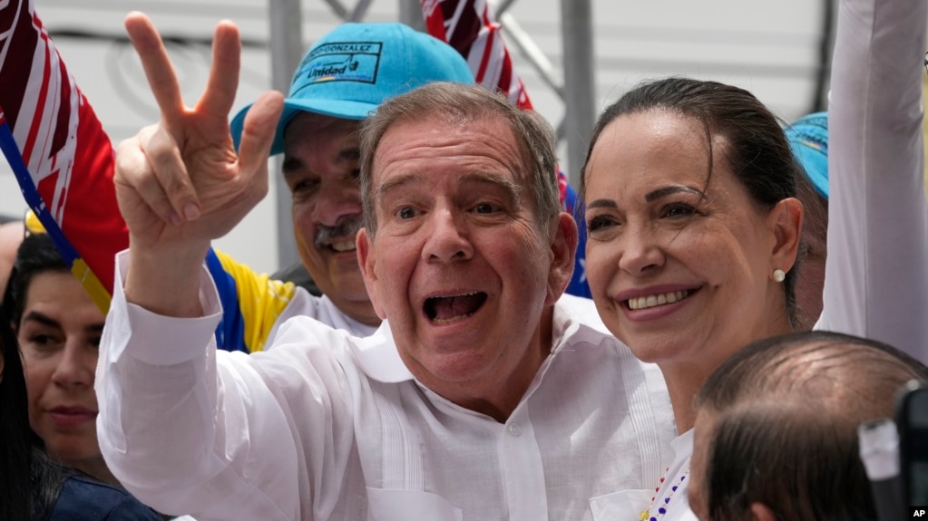
[[[361,150],[358,259],[400,356],[445,398],[505,418],[548,356],[574,267],[550,125],[432,83],[381,105]]]

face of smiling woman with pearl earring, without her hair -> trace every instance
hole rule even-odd
[[[700,121],[651,109],[612,121],[586,165],[586,271],[603,322],[646,362],[714,368],[788,320],[777,237]],[[792,263],[791,263],[792,265]],[[782,316],[778,316],[782,315]]]

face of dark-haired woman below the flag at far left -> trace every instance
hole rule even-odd
[[[17,337],[32,429],[66,464],[100,458],[94,376],[103,312],[71,273],[32,278]]]

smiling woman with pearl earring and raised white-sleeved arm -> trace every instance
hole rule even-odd
[[[769,109],[732,85],[669,78],[638,86],[600,116],[581,176],[589,286],[612,334],[660,366],[678,433],[643,518],[694,518],[692,400],[750,342],[816,320],[816,329],[928,359],[926,15],[923,2],[841,4],[827,276],[812,317],[796,295],[810,215],[799,199],[803,172]]]

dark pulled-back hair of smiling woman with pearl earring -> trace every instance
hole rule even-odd
[[[713,136],[720,135],[728,145],[722,156],[758,208],[770,210],[781,200],[796,197],[796,180],[802,172],[783,134],[781,121],[744,89],[677,77],[642,83],[602,112],[580,172],[581,197],[586,197],[586,165],[603,129],[620,116],[653,109],[665,109],[702,124],[709,147],[706,184],[714,160]],[[786,310],[793,326],[797,325],[798,317],[796,268],[793,265],[783,281]]]

